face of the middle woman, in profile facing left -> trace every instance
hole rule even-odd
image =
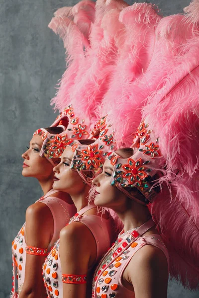
[[[83,191],[85,184],[77,171],[70,169],[74,152],[68,146],[63,154],[61,161],[54,167],[53,188],[75,195]]]

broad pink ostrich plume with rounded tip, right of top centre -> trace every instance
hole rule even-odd
[[[101,107],[101,115],[108,113],[113,124],[118,148],[132,144],[131,134],[141,121],[145,96],[140,97],[139,82],[150,64],[160,20],[157,7],[148,3],[135,3],[119,15],[124,32],[118,39],[118,58]],[[137,96],[133,96],[135,88]]]

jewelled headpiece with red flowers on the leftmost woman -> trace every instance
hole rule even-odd
[[[45,129],[40,129],[42,139],[44,140],[40,156],[45,156],[53,165],[53,159],[60,158],[68,145],[74,140],[82,140],[88,138],[87,127],[90,126],[88,119],[76,117],[74,108],[69,105],[56,118],[51,127],[62,127],[63,132],[60,134],[50,134]],[[45,132],[45,134],[44,134]]]

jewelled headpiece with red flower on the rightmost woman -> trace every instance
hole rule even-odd
[[[153,176],[158,171],[164,172],[164,160],[158,144],[159,138],[149,128],[149,120],[145,119],[136,131],[131,157],[124,159],[115,152],[107,156],[114,166],[110,184],[139,203],[152,202],[156,196],[154,187],[157,186]],[[135,188],[143,195],[140,199],[135,198]]]

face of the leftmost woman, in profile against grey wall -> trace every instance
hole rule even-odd
[[[38,180],[49,180],[54,176],[52,164],[45,158],[39,156],[43,140],[35,135],[30,141],[30,147],[21,155],[24,158],[22,175],[34,177]]]

